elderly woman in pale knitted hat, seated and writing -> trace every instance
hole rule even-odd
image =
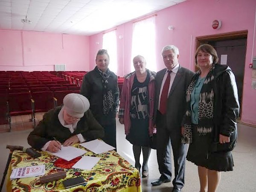
[[[57,152],[64,146],[104,137],[102,126],[93,117],[88,99],[70,93],[63,105],[49,110],[28,136],[28,143],[42,151]]]

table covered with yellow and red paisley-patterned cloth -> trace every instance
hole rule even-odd
[[[73,145],[84,149],[81,145]],[[9,192],[142,192],[140,174],[128,161],[121,157],[116,151],[108,151],[102,154],[88,152],[84,155],[100,157],[101,159],[92,170],[67,169],[66,164],[59,166],[62,161],[58,157],[39,151],[39,158],[30,157],[26,152],[15,150],[9,165],[6,179],[9,179],[12,169],[32,165],[45,164],[45,175],[65,171],[67,177],[61,180],[41,184],[39,177],[19,178],[7,181]],[[58,164],[57,164],[58,163]],[[82,176],[86,180],[84,185],[65,189],[62,181],[71,177]]]

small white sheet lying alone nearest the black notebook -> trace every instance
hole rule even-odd
[[[72,168],[91,170],[99,160],[99,157],[84,156]]]

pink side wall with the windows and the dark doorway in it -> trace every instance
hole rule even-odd
[[[194,70],[195,38],[226,32],[248,30],[247,52],[244,70],[244,89],[242,102],[243,122],[256,125],[256,90],[251,88],[249,63],[256,56],[256,1],[255,0],[187,0],[156,12],[156,48],[157,70],[164,67],[160,51],[167,44],[174,44],[180,49],[179,63]],[[221,29],[211,27],[212,20],[221,20]],[[133,22],[116,27],[119,69],[117,75],[123,76],[131,71],[131,39]],[[168,29],[169,25],[175,27]],[[99,44],[96,44],[99,42]],[[254,42],[254,44],[253,44]],[[147,45],[145,45],[147,46]],[[95,66],[95,55],[102,48],[102,33],[90,36],[90,69]],[[111,64],[111,63],[110,63]]]

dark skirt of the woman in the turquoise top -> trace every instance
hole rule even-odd
[[[192,143],[189,144],[187,160],[210,170],[218,172],[233,171],[233,157],[231,151],[210,151],[212,135],[199,135],[196,125],[192,126]]]

